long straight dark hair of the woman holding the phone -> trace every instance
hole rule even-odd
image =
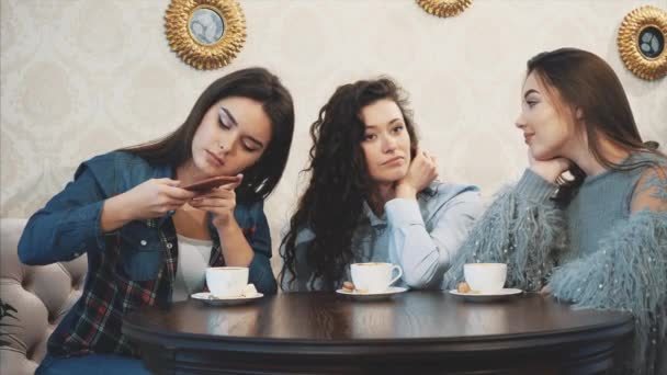
[[[173,133],[121,150],[149,162],[179,167],[192,158],[192,138],[206,111],[228,96],[249,98],[262,103],[271,120],[269,147],[253,166],[244,171],[244,181],[236,190],[240,202],[262,200],[273,191],[283,174],[294,132],[292,95],[280,79],[264,68],[241,69],[218,78],[202,92],[185,122]]]

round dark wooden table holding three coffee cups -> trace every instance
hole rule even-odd
[[[470,303],[444,292],[382,302],[293,293],[129,314],[123,332],[159,374],[597,374],[619,366],[632,316],[538,294]]]

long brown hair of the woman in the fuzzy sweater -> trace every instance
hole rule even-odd
[[[618,164],[606,158],[600,149],[601,137],[626,152],[646,151],[662,155],[657,144],[644,144],[630,109],[623,86],[613,69],[595,54],[576,48],[559,48],[541,53],[528,60],[528,77],[534,72],[547,89],[555,89],[573,113],[580,111],[585,124],[588,149],[596,160],[612,170],[630,170],[649,164],[651,161]],[[574,118],[573,118],[574,120]],[[581,185],[586,173],[576,164],[569,172],[574,179],[558,180],[561,189],[556,201],[566,204]]]

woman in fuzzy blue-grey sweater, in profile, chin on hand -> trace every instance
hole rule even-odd
[[[528,61],[516,125],[530,168],[472,230],[442,287],[463,280],[464,263],[507,263],[510,286],[632,312],[634,355],[621,372],[666,374],[667,158],[642,141],[609,65],[579,49]]]

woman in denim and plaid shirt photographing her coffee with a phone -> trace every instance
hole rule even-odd
[[[121,332],[123,316],[200,292],[207,266],[247,266],[259,292],[275,293],[263,200],[293,128],[292,96],[278,77],[242,69],[214,81],[165,138],[83,162],[19,242],[27,264],[88,254],[82,296],[37,373],[147,373]],[[217,175],[237,180],[203,194],[183,189]]]

